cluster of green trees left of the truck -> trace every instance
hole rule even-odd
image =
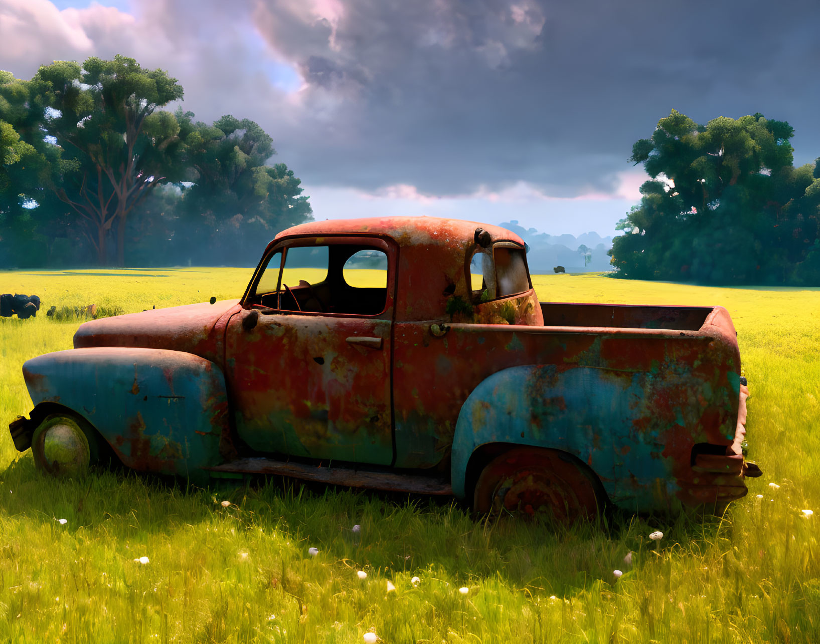
[[[253,265],[312,220],[259,125],[158,109],[182,96],[122,56],[0,71],[0,268]]]

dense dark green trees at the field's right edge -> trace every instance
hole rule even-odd
[[[794,129],[762,114],[699,125],[672,110],[630,161],[652,177],[609,252],[634,279],[820,285],[820,163],[795,168]],[[820,159],[818,159],[820,161]]]

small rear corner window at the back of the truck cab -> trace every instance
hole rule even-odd
[[[480,302],[528,291],[524,249],[498,244],[476,248],[470,261],[470,279],[473,299]]]

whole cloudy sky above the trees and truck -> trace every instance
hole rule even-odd
[[[615,225],[674,108],[762,112],[820,156],[817,0],[0,0],[0,69],[134,57],[198,120],[257,121],[317,220]],[[174,106],[171,106],[173,108]]]

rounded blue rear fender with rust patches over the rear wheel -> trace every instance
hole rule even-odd
[[[499,371],[476,387],[458,416],[453,493],[464,498],[469,492],[467,468],[476,448],[500,442],[576,456],[617,506],[667,507],[677,489],[673,459],[664,453],[670,432],[696,427],[700,411],[686,404],[662,409],[658,401],[673,384],[647,372],[576,365]],[[676,385],[685,387],[685,379]],[[688,458],[686,447],[680,447]]]

